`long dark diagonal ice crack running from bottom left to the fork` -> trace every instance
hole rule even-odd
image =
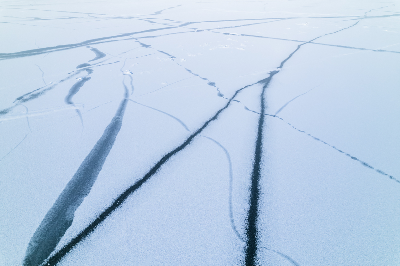
[[[181,145],[179,145],[178,147],[176,147],[174,150],[170,151],[169,153],[167,153],[166,155],[164,155],[160,161],[158,161],[149,171],[148,173],[146,173],[146,175],[144,175],[144,177],[142,177],[139,181],[137,181],[134,185],[130,186],[128,189],[126,189],[121,195],[119,195],[114,202],[112,202],[112,204],[110,206],[108,206],[108,208],[106,208],[99,216],[97,216],[97,218],[91,222],[89,224],[89,226],[87,226],[84,230],[82,230],[82,232],[80,232],[80,234],[78,234],[75,238],[73,238],[68,244],[66,244],[63,248],[61,248],[60,250],[58,250],[53,256],[51,256],[50,258],[48,258],[48,260],[46,260],[45,264],[48,265],[54,265],[57,264],[58,262],[60,262],[60,260],[62,260],[62,258],[68,253],[70,252],[80,241],[84,240],[90,233],[92,233],[94,231],[94,229],[101,223],[103,222],[114,210],[116,210],[117,208],[119,208],[121,206],[121,204],[132,194],[134,193],[138,188],[140,188],[146,181],[148,181],[148,179],[150,179],[150,177],[152,177],[159,169],[160,167],[162,167],[162,165],[164,165],[164,163],[166,163],[172,156],[174,156],[176,153],[179,153],[180,151],[182,151],[186,146],[188,146],[192,140],[200,134],[200,132],[202,132],[206,127],[208,127],[208,125],[216,120],[218,118],[218,116],[220,115],[220,113],[222,113],[226,108],[228,108],[228,106],[230,105],[230,103],[232,102],[232,100],[236,97],[236,95],[238,95],[238,93],[240,91],[242,91],[243,89],[250,87],[252,85],[257,84],[253,83],[250,85],[247,85],[245,87],[242,87],[241,89],[238,89],[234,95],[230,98],[230,100],[228,101],[228,103],[226,103],[226,105],[224,107],[222,107],[221,109],[219,109],[215,115],[213,117],[211,117],[210,119],[208,119],[208,121],[206,121],[202,127],[200,127],[196,132],[192,133]],[[126,101],[128,101],[126,99]],[[35,265],[36,266],[36,265]]]

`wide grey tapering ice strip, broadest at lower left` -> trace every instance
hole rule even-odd
[[[32,236],[26,250],[24,266],[37,266],[46,260],[71,226],[76,209],[89,194],[115,143],[122,126],[127,98],[128,90],[125,87],[125,97],[115,116]]]

